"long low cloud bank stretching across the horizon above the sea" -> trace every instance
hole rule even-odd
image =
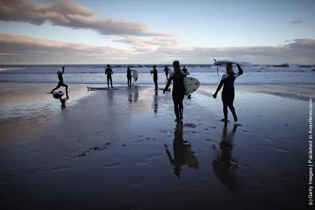
[[[141,41],[128,49],[90,46],[70,42],[38,39],[27,36],[0,34],[0,62],[2,64],[150,64],[180,63],[212,64],[213,58],[243,60],[253,64],[302,63],[314,64],[315,39],[294,39],[283,46],[255,47],[190,47],[160,44],[161,39]],[[158,43],[152,47],[149,42]],[[157,41],[157,42],[156,42]]]

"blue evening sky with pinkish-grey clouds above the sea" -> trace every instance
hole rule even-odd
[[[0,64],[315,64],[315,0],[0,0]]]

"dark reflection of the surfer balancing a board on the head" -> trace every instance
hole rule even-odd
[[[222,140],[220,142],[220,150],[215,146],[213,148],[217,151],[218,156],[212,161],[212,168],[217,179],[219,179],[224,186],[235,190],[239,186],[239,179],[236,174],[237,161],[232,158],[233,151],[233,137],[237,126],[234,125],[233,130],[227,136],[227,122],[224,123]]]

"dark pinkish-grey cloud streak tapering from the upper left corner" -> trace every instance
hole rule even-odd
[[[0,20],[42,25],[50,22],[71,29],[90,29],[101,35],[172,36],[147,30],[144,23],[98,18],[96,12],[70,0],[38,4],[32,0],[0,0]]]

